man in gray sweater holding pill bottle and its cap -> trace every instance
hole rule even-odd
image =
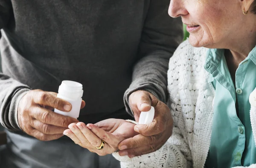
[[[181,21],[169,18],[168,5],[169,0],[0,0],[0,121],[9,138],[1,166],[119,167],[111,155],[90,153],[63,131],[72,122],[129,119],[128,113],[138,120],[152,95],[166,101],[169,58],[182,39]],[[54,93],[62,80],[84,86],[86,106],[82,102],[78,120],[52,111],[71,109]],[[165,115],[169,108],[161,109],[155,125],[141,128],[140,139],[123,142],[123,152],[147,154],[166,142],[172,118]]]

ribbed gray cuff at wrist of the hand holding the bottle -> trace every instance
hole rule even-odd
[[[12,131],[20,131],[20,126],[18,123],[18,105],[20,103],[20,99],[30,91],[28,88],[22,88],[18,90],[15,95],[12,97],[12,101],[9,109],[9,122],[12,125]]]

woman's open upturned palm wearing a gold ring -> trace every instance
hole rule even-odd
[[[104,156],[118,150],[118,144],[122,140],[134,137],[138,133],[134,131],[134,124],[120,119],[103,120],[95,125],[78,122],[72,123],[63,132],[76,144],[89,151]],[[104,148],[97,149],[105,141]]]

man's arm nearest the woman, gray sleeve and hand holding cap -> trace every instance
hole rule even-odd
[[[151,0],[142,31],[138,62],[133,69],[132,83],[125,92],[125,107],[138,122],[140,112],[155,107],[154,124],[138,125],[137,139],[119,144],[119,154],[140,156],[156,151],[171,136],[172,116],[165,105],[169,58],[182,40],[181,20],[168,15],[169,0]]]

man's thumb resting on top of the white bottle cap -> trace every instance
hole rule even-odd
[[[150,95],[146,91],[135,91],[129,97],[132,110],[149,111],[151,108]]]

